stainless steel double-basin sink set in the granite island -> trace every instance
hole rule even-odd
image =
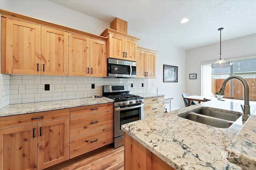
[[[185,119],[219,128],[230,127],[240,116],[241,115],[234,113],[227,113],[224,111],[216,111],[211,109],[199,109],[185,115],[179,115],[179,117],[183,117]]]

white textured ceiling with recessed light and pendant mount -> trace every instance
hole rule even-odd
[[[255,0],[49,0],[175,47],[193,49],[256,33]],[[187,23],[180,23],[188,18]],[[139,37],[140,38],[140,37]]]

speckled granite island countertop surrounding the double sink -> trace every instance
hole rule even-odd
[[[175,169],[241,170],[239,166],[226,159],[226,148],[240,131],[242,117],[229,128],[222,129],[178,116],[200,107],[226,110],[241,115],[242,109],[239,102],[241,101],[238,103],[235,100],[202,102],[122,125],[122,129]],[[256,102],[253,107],[256,107]],[[251,110],[254,110],[253,107],[251,105]],[[246,123],[249,124],[249,122]]]

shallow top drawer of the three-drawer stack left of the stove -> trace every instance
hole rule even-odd
[[[113,103],[96,104],[90,106],[73,107],[70,108],[70,117],[85,115],[89,113],[96,113],[100,111],[113,110]]]

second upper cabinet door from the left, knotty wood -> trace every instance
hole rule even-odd
[[[41,74],[68,75],[68,33],[42,27]]]

